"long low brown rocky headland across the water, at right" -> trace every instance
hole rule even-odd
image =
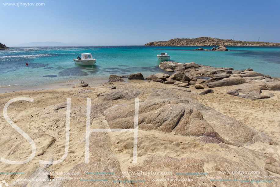
[[[175,38],[168,41],[145,43],[145,46],[280,46],[280,43],[247,42],[232,39],[218,39],[210,37]]]

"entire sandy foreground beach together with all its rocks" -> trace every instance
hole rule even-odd
[[[15,97],[34,99],[34,103],[12,103],[8,115],[34,140],[37,148],[34,159],[27,164],[2,162],[0,165],[2,172],[24,171],[25,174],[1,174],[0,179],[13,186],[31,187],[112,184],[155,187],[278,186],[279,78],[250,68],[239,71],[195,62],[162,62],[159,68],[166,73],[147,77],[141,73],[111,75],[109,82],[95,87],[82,82],[64,89],[0,94],[0,110]],[[67,157],[58,164],[39,164],[39,159],[54,161],[64,153],[67,98],[71,98]],[[139,98],[136,164],[132,163],[134,139],[131,132],[91,132],[89,163],[85,163],[87,98],[92,100],[91,129],[133,129],[135,98]],[[0,118],[0,132],[0,157],[10,160],[28,158],[31,154],[30,144],[3,116]],[[79,175],[65,176],[58,173],[61,171]],[[170,173],[122,173],[139,171]],[[256,174],[247,177],[245,174],[234,175],[231,173],[234,171],[257,171],[258,176],[274,177],[263,179],[256,177]],[[88,172],[106,174],[93,175]],[[27,180],[16,181],[20,178]],[[81,178],[109,182],[81,181]],[[41,180],[32,181],[35,179]],[[239,181],[230,181],[233,179]],[[272,182],[253,183],[253,180]]]

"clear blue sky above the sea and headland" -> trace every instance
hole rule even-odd
[[[144,45],[202,36],[280,42],[279,0],[2,0],[0,12],[0,42],[7,46],[45,41]]]

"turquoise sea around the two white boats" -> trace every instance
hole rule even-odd
[[[0,50],[0,87],[37,86],[68,80],[107,79],[110,74],[143,73],[161,70],[156,55],[168,53],[176,62],[196,62],[214,67],[252,68],[280,77],[280,47],[227,47],[230,51],[195,51],[199,47],[90,46],[15,47]],[[211,49],[212,47],[203,47]],[[73,58],[91,53],[96,65],[75,65]],[[29,65],[26,66],[25,63]],[[44,77],[49,76],[51,77]]]

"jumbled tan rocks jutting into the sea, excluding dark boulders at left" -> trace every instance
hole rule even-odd
[[[227,93],[248,99],[264,99],[273,96],[273,94],[262,95],[261,90],[280,91],[280,81],[272,79],[268,75],[255,72],[251,68],[238,71],[233,68],[214,68],[199,65],[195,62],[184,64],[178,62],[161,62],[159,66],[163,70],[176,70],[176,73],[170,77],[177,77],[178,74],[181,74],[181,77],[188,77],[190,79],[188,83],[197,89],[244,84]]]

